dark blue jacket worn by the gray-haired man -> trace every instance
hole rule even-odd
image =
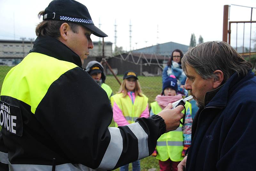
[[[186,171],[252,171],[256,151],[256,77],[232,75],[207,92],[192,125]]]

